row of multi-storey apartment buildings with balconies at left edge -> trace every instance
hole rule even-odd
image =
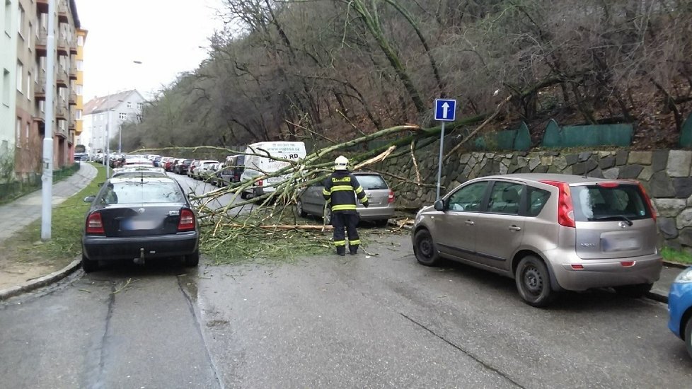
[[[42,139],[51,131],[54,142],[54,168],[71,162],[76,132],[76,57],[80,28],[74,0],[54,0],[55,13],[48,15],[49,0],[6,0],[2,37],[3,104],[0,151],[7,141],[6,158],[13,161],[16,180],[33,181],[42,173]],[[54,18],[53,52],[47,50],[48,20]],[[8,24],[11,24],[8,27]],[[8,37],[9,36],[9,40]],[[86,33],[85,33],[86,36]],[[11,40],[11,41],[10,41]],[[47,56],[55,59],[53,128],[46,129],[45,98]],[[13,80],[9,91],[6,81]],[[6,93],[11,94],[6,99]],[[5,101],[7,100],[7,104]],[[7,112],[10,112],[9,114]],[[8,130],[10,128],[10,130]],[[8,138],[11,133],[12,139]],[[3,153],[5,155],[5,153]]]

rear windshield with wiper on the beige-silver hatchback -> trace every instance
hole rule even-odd
[[[648,219],[651,212],[638,185],[570,187],[576,221]]]

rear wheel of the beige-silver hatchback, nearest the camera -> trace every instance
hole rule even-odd
[[[521,298],[530,306],[543,307],[555,300],[557,293],[550,286],[550,273],[542,260],[529,255],[519,262],[514,274]]]

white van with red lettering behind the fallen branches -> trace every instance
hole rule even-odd
[[[252,180],[260,175],[271,174],[290,165],[287,161],[277,161],[270,158],[270,156],[291,161],[298,161],[306,156],[305,144],[303,142],[289,141],[253,143],[248,146],[245,152],[248,155],[245,156],[245,170],[243,170],[243,175],[241,175],[241,181]],[[247,199],[250,196],[257,197],[265,193],[274,192],[275,187],[271,185],[282,182],[287,177],[288,175],[282,175],[267,180],[260,180],[253,187],[244,190],[241,193],[241,198]]]

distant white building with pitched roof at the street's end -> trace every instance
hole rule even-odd
[[[115,139],[120,134],[121,124],[139,120],[143,104],[144,97],[134,89],[89,100],[84,105],[83,132],[77,144],[87,146],[88,153],[96,154],[105,152],[110,139],[110,151],[117,151]]]

